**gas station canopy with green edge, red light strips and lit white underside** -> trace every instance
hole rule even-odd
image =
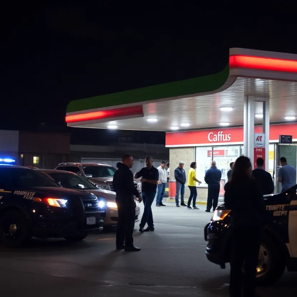
[[[204,77],[75,100],[71,127],[173,131],[243,126],[244,98],[269,98],[269,121],[294,121],[297,55],[232,48],[229,65]],[[263,119],[255,100],[255,124]]]

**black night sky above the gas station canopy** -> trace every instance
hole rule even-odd
[[[10,1],[1,9],[0,129],[65,131],[80,139],[120,135],[67,129],[68,102],[218,72],[230,47],[297,53],[293,18],[234,13],[227,4],[96,2]],[[138,136],[164,143],[164,133]]]

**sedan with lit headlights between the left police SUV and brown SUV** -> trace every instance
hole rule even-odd
[[[107,211],[104,219],[104,226],[115,226],[118,222],[118,209],[116,205],[116,193],[108,190],[98,189],[95,184],[86,178],[69,171],[35,169],[43,173],[52,180],[59,183],[62,187],[68,189],[80,189],[95,194],[98,198],[106,201]],[[135,200],[135,222],[139,221],[140,207]]]

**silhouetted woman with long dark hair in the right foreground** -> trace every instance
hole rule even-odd
[[[244,265],[244,297],[255,297],[256,267],[263,228],[265,202],[260,186],[252,177],[249,158],[239,157],[230,181],[225,185],[225,206],[232,211],[230,296],[241,296]]]

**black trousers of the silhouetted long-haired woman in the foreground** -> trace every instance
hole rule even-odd
[[[230,296],[241,296],[242,267],[244,264],[243,296],[254,297],[256,267],[262,230],[244,228],[233,231],[230,270]]]

